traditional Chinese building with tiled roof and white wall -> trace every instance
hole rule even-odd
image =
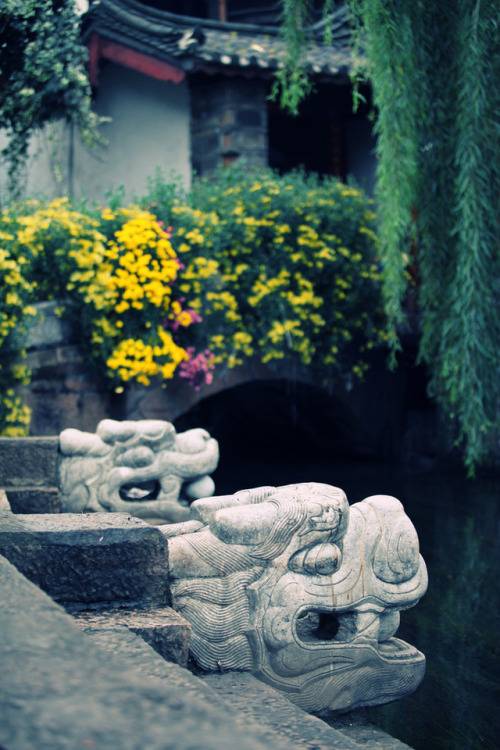
[[[286,56],[280,7],[263,0],[93,2],[83,39],[96,111],[110,118],[108,144],[91,152],[66,132],[54,149],[42,137],[29,191],[102,199],[123,185],[140,194],[158,167],[189,186],[193,172],[242,157],[254,166],[353,177],[371,190],[374,141],[366,108],[352,111],[346,11],[334,12],[330,44],[319,12],[308,29],[313,90],[293,117],[269,98]]]

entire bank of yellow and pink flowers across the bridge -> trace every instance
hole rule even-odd
[[[28,303],[44,299],[73,315],[87,361],[116,390],[174,376],[200,388],[251,357],[328,383],[363,376],[385,324],[362,191],[234,168],[197,180],[188,198],[158,175],[150,188],[143,207],[117,196],[104,209],[63,198],[4,212],[0,429],[26,423],[13,387],[27,374],[3,363]]]

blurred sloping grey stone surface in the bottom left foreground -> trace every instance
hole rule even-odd
[[[0,746],[3,750],[304,750],[314,734],[245,716],[231,695],[168,663],[130,631],[82,633],[0,558]],[[230,690],[230,688],[229,688]],[[255,691],[254,691],[255,693]],[[266,694],[266,699],[269,696]],[[320,729],[321,722],[303,715]],[[325,725],[321,729],[326,731]],[[328,747],[360,745],[330,729]],[[292,742],[293,740],[293,742]],[[366,747],[365,747],[366,750]]]

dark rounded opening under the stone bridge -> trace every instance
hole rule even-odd
[[[217,494],[334,483],[335,463],[373,454],[368,427],[346,401],[300,381],[258,380],[201,399],[174,424],[177,431],[204,427],[219,442]]]

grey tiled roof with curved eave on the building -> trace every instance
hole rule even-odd
[[[135,0],[99,0],[84,21],[84,38],[96,32],[113,42],[172,63],[186,72],[247,69],[274,71],[286,58],[275,26],[222,23],[179,16]],[[321,43],[322,24],[309,29],[307,63],[312,75],[346,74],[352,65],[347,14],[333,14],[333,42]]]

